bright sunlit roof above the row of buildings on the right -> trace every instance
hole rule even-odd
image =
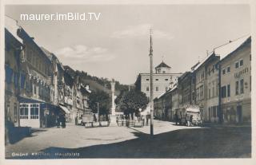
[[[220,60],[222,60],[223,58],[228,56],[230,53],[233,53],[236,49],[238,49],[249,38],[250,38],[250,35],[246,35],[234,41],[230,41],[229,43],[225,45],[221,45],[218,48],[214,49],[214,53],[220,57]]]

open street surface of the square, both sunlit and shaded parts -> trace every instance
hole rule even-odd
[[[150,137],[149,126],[84,128],[70,123],[66,128],[34,130],[30,137],[7,145],[6,158],[250,157],[250,132],[246,126],[196,128],[154,120],[155,136]]]

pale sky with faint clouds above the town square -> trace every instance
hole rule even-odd
[[[150,33],[154,66],[164,61],[184,73],[207,51],[250,34],[247,5],[51,5],[6,6],[6,15],[70,65],[97,77],[134,84],[150,72]],[[20,14],[101,13],[98,21],[22,21]]]

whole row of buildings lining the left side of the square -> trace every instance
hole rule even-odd
[[[71,114],[74,119],[78,111],[88,110],[89,86],[82,92],[78,74],[70,75],[54,53],[39,47],[12,18],[5,22],[6,122],[53,127],[59,116],[69,119],[77,110]]]

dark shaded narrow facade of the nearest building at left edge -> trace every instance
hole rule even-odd
[[[22,43],[8,29],[5,29],[5,120],[16,127],[20,125],[18,117],[19,84],[21,84],[19,82],[20,53],[22,53]],[[23,83],[24,77],[21,79]]]

